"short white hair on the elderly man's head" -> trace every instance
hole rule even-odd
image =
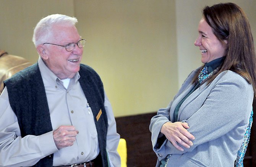
[[[52,27],[54,25],[64,25],[64,26],[75,26],[77,19],[74,17],[66,16],[64,14],[52,14],[42,18],[34,28],[34,34],[32,41],[37,47],[52,37]]]

